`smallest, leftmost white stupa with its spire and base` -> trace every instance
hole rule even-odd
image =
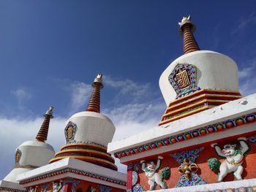
[[[23,142],[16,149],[15,166],[13,166],[12,171],[1,180],[0,191],[25,191],[25,188],[18,183],[18,175],[29,172],[39,166],[44,166],[53,158],[55,153],[53,147],[45,142],[48,137],[50,118],[53,118],[52,106],[47,110],[44,116],[45,120],[42,122],[36,140]]]

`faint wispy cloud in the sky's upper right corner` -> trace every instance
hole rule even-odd
[[[249,25],[254,25],[256,23],[256,15],[255,12],[252,12],[247,17],[242,17],[240,20],[238,20],[238,23],[236,25],[236,28],[232,31],[232,34],[238,34],[239,32],[246,29]]]

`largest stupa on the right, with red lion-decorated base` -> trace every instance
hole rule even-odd
[[[190,17],[184,55],[159,78],[159,126],[110,142],[127,165],[127,191],[256,191],[256,94],[241,96],[233,59],[200,50]]]

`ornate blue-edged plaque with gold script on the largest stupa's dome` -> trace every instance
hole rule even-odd
[[[178,64],[168,77],[170,85],[177,93],[176,98],[200,90],[197,87],[197,74],[195,66]]]

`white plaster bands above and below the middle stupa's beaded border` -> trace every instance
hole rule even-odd
[[[116,180],[121,180],[121,181],[124,181],[124,182],[126,182],[126,180],[127,180],[126,174],[123,174],[121,172],[116,172],[116,171],[113,171],[111,169],[107,169],[107,168],[104,168],[102,166],[97,166],[97,165],[94,165],[94,164],[90,164],[90,163],[85,162],[85,161],[80,161],[80,160],[75,159],[75,158],[64,158],[60,161],[54,162],[53,164],[48,164],[48,165],[45,165],[45,166],[41,166],[37,169],[31,170],[30,172],[20,174],[20,175],[18,175],[18,181],[28,180],[30,178],[34,178],[34,177],[37,177],[37,176],[42,175],[42,174],[47,174],[47,173],[54,172],[54,171],[57,171],[57,170],[65,169],[67,167],[72,168],[72,169],[78,169],[78,170],[81,170],[81,171],[84,171],[84,172],[91,172],[91,173],[94,173],[94,174],[99,174],[99,175],[102,175],[102,176],[105,176],[105,177],[113,178],[113,179],[116,179]],[[118,185],[118,184],[115,184],[115,183],[110,183],[110,182],[106,182],[106,181],[103,181],[103,180],[98,180],[98,179],[95,179],[95,178],[86,177],[86,176],[82,176],[82,175],[78,175],[78,174],[72,174],[72,173],[59,175],[58,177],[59,178],[72,177],[72,178],[77,178],[77,179],[80,179],[80,180],[88,180],[88,181],[91,181],[91,182],[94,182],[94,183],[102,183],[104,185],[111,185],[111,186],[116,187],[116,188],[125,188],[125,186]],[[56,178],[57,177],[54,177],[54,179],[56,179]],[[50,178],[45,179],[45,180],[39,180],[37,182],[29,183],[29,184],[26,184],[24,186],[26,187],[27,185],[45,183],[45,182],[49,182],[50,180],[53,180],[53,178],[50,177]]]

